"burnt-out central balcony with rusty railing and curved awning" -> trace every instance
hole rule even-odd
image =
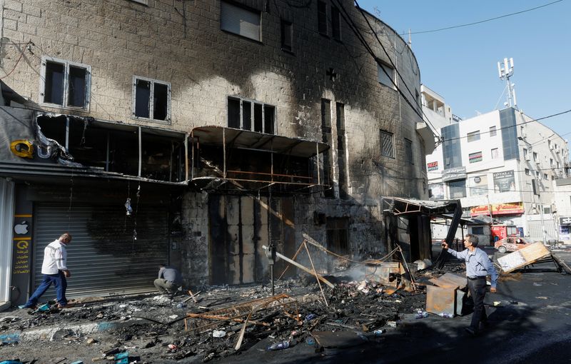
[[[316,141],[202,126],[191,131],[191,181],[205,191],[307,193],[327,188]]]

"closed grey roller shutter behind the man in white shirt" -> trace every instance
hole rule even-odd
[[[133,210],[134,210],[133,206]],[[35,206],[34,281],[42,279],[46,245],[69,231],[71,271],[67,297],[120,295],[153,290],[158,264],[168,259],[167,213],[164,208],[138,206],[126,216],[122,203],[113,206],[40,203]],[[133,240],[136,223],[137,239]],[[45,298],[55,297],[54,288]]]

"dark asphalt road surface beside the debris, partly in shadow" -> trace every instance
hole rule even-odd
[[[486,250],[493,254],[493,250]],[[571,252],[556,252],[571,265]],[[571,275],[552,263],[500,278],[485,303],[490,328],[476,338],[465,333],[471,315],[416,320],[405,315],[398,328],[351,348],[325,349],[298,343],[268,352],[262,340],[223,363],[571,363]],[[494,301],[500,305],[494,306]]]

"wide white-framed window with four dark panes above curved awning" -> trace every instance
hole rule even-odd
[[[228,97],[228,127],[275,134],[276,106]]]

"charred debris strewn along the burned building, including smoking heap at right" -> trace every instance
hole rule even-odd
[[[304,241],[302,247],[306,244],[318,243]],[[320,253],[331,254],[325,248]],[[276,279],[273,287],[203,286],[181,289],[173,298],[84,298],[64,310],[40,306],[2,318],[0,331],[22,336],[3,345],[25,346],[30,345],[26,331],[56,327],[46,339],[77,345],[78,352],[80,346],[96,348],[100,355],[93,360],[103,363],[120,363],[121,355],[127,358],[124,363],[159,358],[207,362],[254,345],[264,350],[310,345],[316,352],[366,345],[383,340],[383,333],[397,330],[400,320],[424,310],[430,278],[462,270],[447,264],[444,271],[433,271],[430,261],[407,264],[402,257],[398,248],[365,261],[334,256],[335,273],[323,276],[306,267],[310,273]],[[82,329],[89,324],[109,330]]]

